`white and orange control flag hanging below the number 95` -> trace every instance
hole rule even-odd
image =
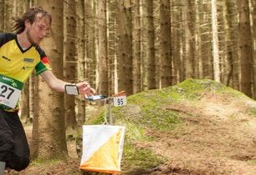
[[[120,173],[125,127],[83,126],[83,154],[80,169],[101,173]]]

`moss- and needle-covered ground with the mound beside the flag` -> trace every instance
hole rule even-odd
[[[242,93],[189,79],[127,103],[113,108],[115,124],[126,127],[121,174],[256,174],[256,102]],[[78,168],[79,159],[70,155],[66,163],[32,164],[20,174],[76,175]]]

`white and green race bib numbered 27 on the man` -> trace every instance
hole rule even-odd
[[[23,82],[0,75],[0,103],[15,108],[23,89]]]

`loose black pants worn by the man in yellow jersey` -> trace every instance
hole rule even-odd
[[[30,151],[18,112],[0,109],[0,161],[7,168],[21,171],[28,167]]]

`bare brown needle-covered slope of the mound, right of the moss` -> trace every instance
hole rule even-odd
[[[255,175],[256,118],[248,108],[256,102],[245,104],[205,94],[200,102],[168,107],[183,112],[186,122],[169,133],[150,133],[159,139],[143,147],[168,160],[151,174]]]

